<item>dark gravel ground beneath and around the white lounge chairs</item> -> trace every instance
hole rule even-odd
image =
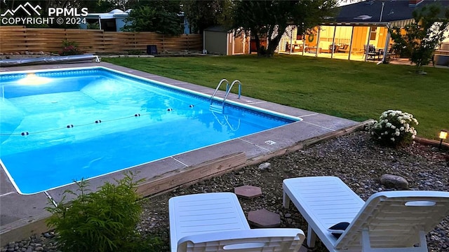
[[[268,160],[269,167],[258,165],[225,174],[188,188],[178,188],[169,193],[150,197],[145,203],[138,230],[143,235],[158,236],[166,244],[168,239],[168,199],[192,193],[234,192],[238,186],[258,186],[262,196],[239,199],[243,211],[267,209],[281,216],[281,227],[301,228],[307,223],[293,205],[282,207],[282,181],[297,176],[338,176],[363,200],[386,188],[380,183],[382,174],[401,176],[410,190],[449,191],[449,151],[413,144],[407,148],[393,149],[378,146],[366,132],[354,132],[343,137],[316,144],[302,151]],[[306,234],[307,235],[307,234]],[[1,251],[57,251],[53,233],[30,237],[25,241],[8,244]],[[427,235],[429,251],[449,251],[449,216]],[[327,251],[320,242],[309,251]]]

